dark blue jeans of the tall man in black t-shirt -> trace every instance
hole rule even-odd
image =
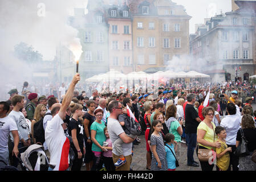
[[[188,164],[193,164],[194,163],[194,149],[196,148],[196,143],[197,143],[197,134],[196,133],[188,133],[186,134],[186,138],[188,139],[188,152],[187,152],[187,157],[188,157]]]

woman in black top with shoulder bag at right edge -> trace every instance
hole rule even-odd
[[[241,129],[237,132],[237,142],[235,146],[239,148],[239,144],[245,141],[247,144],[246,156],[239,156],[239,171],[255,171],[256,163],[251,160],[253,151],[256,150],[256,129],[255,122],[249,114],[243,114],[241,121]]]

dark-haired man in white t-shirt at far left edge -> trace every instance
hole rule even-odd
[[[18,157],[19,134],[18,128],[13,118],[7,117],[10,106],[7,102],[0,102],[0,167],[9,164],[8,137],[10,133],[14,137],[13,155]]]

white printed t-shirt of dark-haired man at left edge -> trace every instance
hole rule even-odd
[[[13,118],[0,118],[0,153],[8,151],[8,137],[11,131],[18,130]]]

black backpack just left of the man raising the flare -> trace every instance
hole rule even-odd
[[[51,113],[46,113],[45,115],[44,115],[44,117],[46,116],[46,115],[51,115]],[[42,117],[38,122],[36,122],[35,124],[34,124],[34,138],[35,138],[35,140],[36,140],[36,143],[37,142],[40,142],[40,143],[44,143],[44,141],[45,141],[45,137],[44,137],[44,129],[43,129],[43,118],[44,117]]]

